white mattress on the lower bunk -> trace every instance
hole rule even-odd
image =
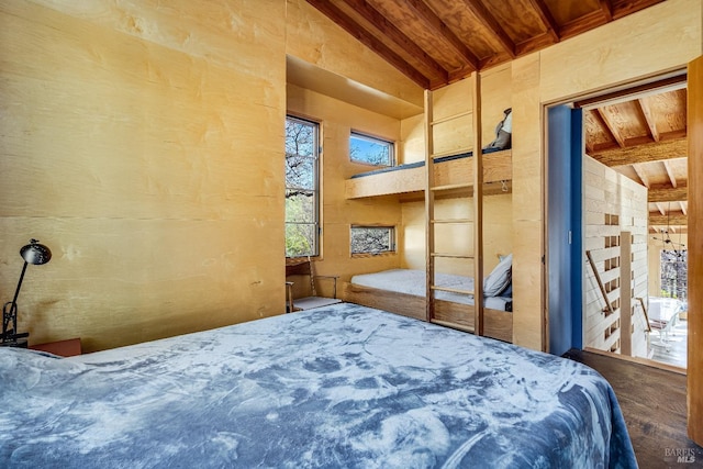
[[[473,291],[473,278],[471,277],[435,273],[435,282],[438,287]],[[352,283],[414,297],[424,297],[426,293],[424,270],[391,269],[375,273],[362,273],[352,277]],[[435,298],[455,303],[473,304],[472,294],[435,291]],[[510,297],[484,298],[483,306],[499,311],[513,311],[513,299]]]

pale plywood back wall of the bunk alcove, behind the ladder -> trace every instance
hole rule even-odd
[[[484,145],[495,137],[495,125],[503,119],[503,111],[512,105],[511,102],[511,67],[504,65],[481,74],[481,118],[483,120],[481,139]],[[448,87],[434,91],[434,119],[470,112],[472,110],[470,79],[461,80]],[[471,114],[459,120],[453,120],[435,126],[435,149],[437,153],[472,150],[471,135],[466,129],[472,127]],[[413,139],[424,142],[424,133],[409,130],[412,124],[422,129],[423,122],[415,119],[403,121],[404,147],[409,150],[403,155],[405,163],[424,160],[424,145]],[[420,152],[410,152],[411,148]],[[498,265],[498,255],[512,252],[513,227],[511,222],[512,196],[510,193],[483,198],[484,225],[484,275]],[[403,213],[403,245],[401,248],[401,266],[411,269],[425,268],[424,239],[424,204],[416,201],[402,204]],[[473,219],[473,202],[469,198],[444,199],[435,202],[437,217],[442,219]],[[456,226],[439,226],[435,231],[436,248],[443,253],[472,254],[473,227],[470,224]],[[472,265],[467,260],[438,259],[437,271],[472,277]]]

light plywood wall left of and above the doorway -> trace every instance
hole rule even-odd
[[[702,52],[702,4],[670,0],[513,62],[514,343],[544,346],[544,107],[680,69]],[[539,334],[543,332],[543,334]]]

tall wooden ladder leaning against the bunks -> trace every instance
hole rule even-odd
[[[437,322],[448,326],[467,330],[460,324],[448,323],[436,320],[436,301],[435,293],[437,291],[449,291],[455,293],[466,293],[473,295],[473,332],[476,335],[483,335],[483,228],[482,228],[482,182],[483,167],[481,155],[481,105],[480,105],[480,78],[478,72],[473,72],[471,80],[473,109],[469,112],[462,112],[456,115],[434,119],[433,92],[425,90],[425,266],[426,266],[426,319],[428,322]],[[473,157],[467,158],[467,164],[473,165],[473,181],[466,183],[436,186],[434,160],[440,156],[445,156],[435,152],[434,127],[437,124],[464,118],[468,114],[472,115],[472,130],[467,130],[467,134],[473,134]],[[473,187],[473,219],[436,219],[435,217],[435,197],[442,192],[456,189],[468,189]],[[464,255],[455,253],[438,253],[435,246],[435,228],[437,225],[472,225],[473,226],[473,254]],[[457,290],[453,288],[444,288],[435,284],[435,267],[436,260],[439,258],[455,258],[471,260],[473,265],[473,291]]]

